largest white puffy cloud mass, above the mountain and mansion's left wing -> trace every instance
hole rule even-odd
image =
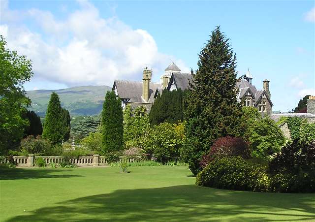
[[[7,10],[0,33],[9,49],[32,60],[35,78],[68,86],[111,86],[114,79],[140,80],[143,68],[149,66],[158,80],[172,60],[189,72],[183,61],[160,53],[147,31],[132,29],[117,17],[100,17],[90,2],[78,3],[80,8],[64,20],[36,8],[18,13],[36,23],[36,31],[19,20],[12,21],[17,12],[4,4]]]

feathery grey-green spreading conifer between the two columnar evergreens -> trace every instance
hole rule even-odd
[[[98,127],[100,124],[99,116],[87,116],[87,117],[75,117],[80,119],[78,123],[74,127],[71,128],[71,135],[75,136],[75,138],[85,138],[91,133],[98,131]],[[71,122],[72,126],[72,122]],[[99,131],[100,132],[100,131]]]

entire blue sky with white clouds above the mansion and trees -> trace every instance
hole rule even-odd
[[[1,1],[0,32],[33,61],[27,90],[155,81],[174,60],[197,68],[217,26],[230,38],[237,70],[270,80],[273,110],[315,95],[314,1]]]

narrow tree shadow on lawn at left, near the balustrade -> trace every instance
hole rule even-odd
[[[0,169],[0,180],[25,180],[37,178],[68,178],[68,177],[82,177],[81,175],[70,174],[54,174],[56,172],[71,171],[69,169]]]

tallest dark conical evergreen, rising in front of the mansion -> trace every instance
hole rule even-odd
[[[181,155],[194,175],[200,170],[202,155],[217,138],[242,134],[242,109],[235,91],[236,56],[228,40],[220,27],[212,32],[199,54],[198,69],[189,84],[185,102],[187,139]]]

